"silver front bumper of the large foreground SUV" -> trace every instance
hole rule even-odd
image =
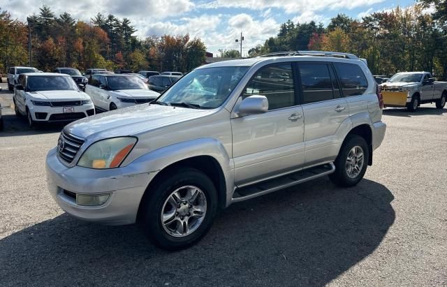
[[[47,154],[46,173],[48,189],[61,209],[78,219],[107,225],[135,223],[140,200],[155,176],[151,172],[139,173],[132,164],[108,170],[68,168],[57,158],[56,148]],[[86,195],[111,193],[111,196],[103,205],[85,207],[77,205],[64,190]]]

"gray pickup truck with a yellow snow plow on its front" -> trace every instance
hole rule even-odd
[[[438,109],[446,105],[447,82],[435,82],[428,72],[397,73],[380,87],[386,107],[414,112],[421,103],[434,102]]]

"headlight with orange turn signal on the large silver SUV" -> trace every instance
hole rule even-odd
[[[137,138],[122,137],[100,140],[89,146],[78,165],[84,168],[117,168],[131,152]]]

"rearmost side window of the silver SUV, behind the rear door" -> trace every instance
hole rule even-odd
[[[368,81],[360,66],[349,63],[334,63],[335,71],[344,96],[360,96],[368,88]]]

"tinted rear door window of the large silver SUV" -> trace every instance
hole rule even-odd
[[[337,80],[331,77],[331,67],[324,63],[300,63],[298,64],[302,88],[302,103],[315,103],[330,101],[339,98],[334,93],[338,89]],[[333,72],[332,72],[333,73]],[[335,80],[335,81],[334,81]],[[334,87],[335,85],[335,87]]]

